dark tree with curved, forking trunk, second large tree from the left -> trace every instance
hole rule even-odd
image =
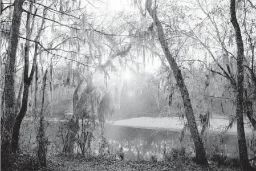
[[[67,1],[68,2],[68,1]],[[67,5],[68,3],[66,3]],[[24,72],[23,72],[23,96],[22,96],[22,106],[21,106],[21,110],[18,112],[17,117],[15,118],[15,123],[14,123],[14,127],[13,127],[13,135],[12,135],[12,150],[13,152],[17,152],[17,149],[19,147],[19,131],[21,129],[21,124],[22,124],[22,120],[23,118],[26,116],[27,113],[27,104],[28,104],[28,100],[29,100],[29,90],[30,90],[30,86],[32,83],[32,79],[34,77],[34,73],[36,72],[36,68],[38,68],[37,66],[37,57],[45,52],[47,52],[48,54],[52,54],[51,58],[54,58],[54,56],[60,56],[58,51],[63,51],[61,48],[59,48],[60,46],[62,46],[63,44],[67,43],[68,40],[70,39],[75,39],[71,36],[66,36],[65,34],[62,34],[62,32],[58,32],[56,34],[56,30],[54,30],[54,28],[60,28],[59,26],[55,26],[55,25],[49,25],[49,23],[46,21],[50,21],[52,23],[59,23],[60,25],[62,25],[60,22],[55,21],[52,18],[55,18],[55,13],[58,14],[57,16],[59,18],[63,18],[63,16],[65,17],[72,17],[75,19],[78,19],[77,17],[74,17],[74,15],[68,14],[70,11],[70,9],[68,9],[65,13],[64,11],[58,11],[55,9],[52,9],[51,6],[54,5],[54,2],[50,3],[50,5],[46,6],[43,5],[43,3],[38,3],[38,2],[33,2],[31,1],[29,3],[29,10],[25,10],[24,11],[27,13],[27,19],[26,19],[26,38],[23,38],[22,36],[19,36],[19,38],[21,39],[25,39],[26,43],[25,43],[25,48],[24,48],[24,58],[25,58],[25,63],[24,63]],[[60,4],[60,6],[62,6]],[[35,8],[33,10],[33,8]],[[33,13],[34,11],[34,13]],[[47,11],[50,11],[50,14],[47,15],[46,17],[46,13]],[[39,14],[38,14],[39,13]],[[36,19],[35,18],[42,18],[42,22],[39,22],[39,26],[37,28],[37,32],[33,33],[34,30],[36,30]],[[46,26],[44,26],[44,23],[46,23]],[[47,31],[47,27],[52,26],[52,34],[56,35],[56,37],[53,36],[53,38],[51,37],[51,42],[49,43],[50,46],[48,46],[47,48],[45,48],[43,45],[44,43],[47,42],[40,42],[40,37],[43,35],[43,31]],[[74,29],[74,28],[71,28]],[[57,29],[58,30],[58,29]],[[34,40],[32,39],[33,36],[35,37]],[[65,38],[65,39],[62,39]],[[77,38],[77,37],[76,37]],[[32,50],[30,44],[30,42],[34,43],[34,54],[32,57],[32,66],[31,66],[31,71],[30,71],[30,75],[29,75],[29,56],[30,56],[30,52]],[[54,46],[54,43],[58,42],[58,44],[56,44]],[[53,54],[51,51],[57,51],[56,54]],[[66,51],[67,53],[72,53],[73,51]],[[48,55],[47,55],[48,56]],[[51,59],[52,61],[52,59]],[[42,62],[42,60],[40,60],[40,62]],[[41,63],[41,66],[43,64]],[[52,64],[51,64],[51,78],[52,78]],[[43,75],[43,74],[42,74]],[[37,84],[37,79],[38,79],[38,74],[36,74],[36,84]],[[51,80],[51,79],[50,79]],[[35,91],[37,91],[37,86],[35,88]],[[36,92],[35,92],[36,94]],[[35,101],[36,101],[36,95],[35,95]],[[36,102],[35,102],[35,108],[36,108]]]

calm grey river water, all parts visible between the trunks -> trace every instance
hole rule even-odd
[[[60,134],[59,127],[62,123],[62,121],[57,120],[48,121],[46,136],[51,142],[51,145],[48,146],[49,152],[52,151],[57,153],[61,152],[63,149],[63,136]],[[160,124],[161,123],[162,122],[160,122]],[[151,125],[153,125],[153,123],[151,123]],[[178,129],[178,127],[177,129],[165,129],[157,128],[155,126],[151,128],[143,128],[143,126],[145,126],[143,123],[141,124],[141,127],[128,127],[125,125],[115,125],[111,123],[105,124],[104,136],[108,141],[108,150],[110,153],[116,153],[120,148],[123,148],[125,158],[129,160],[137,160],[138,158],[148,160],[152,155],[161,159],[163,158],[164,150],[168,152],[168,150],[177,146],[185,146],[186,150],[191,152],[193,155],[194,145],[188,130],[185,131],[181,140],[181,129]],[[22,137],[24,140],[23,142],[21,141],[23,148],[31,148],[32,144],[36,144],[34,124],[29,124],[26,129],[23,129]],[[238,142],[237,135],[234,133],[221,135],[221,132],[209,132],[207,137],[208,139],[204,144],[206,151],[210,152],[218,148],[220,152],[227,155],[237,155]],[[252,150],[250,150],[251,137],[251,134],[247,131],[246,139],[250,158],[252,158],[253,155],[255,156],[255,154],[252,153]],[[32,139],[34,139],[35,143],[32,143]],[[30,144],[27,143],[28,140],[31,142]],[[94,149],[92,150],[97,154],[99,142],[96,140],[94,144]],[[34,148],[36,148],[36,146]],[[256,148],[256,146],[254,146],[254,148]],[[74,152],[78,151],[79,148],[76,145]]]

